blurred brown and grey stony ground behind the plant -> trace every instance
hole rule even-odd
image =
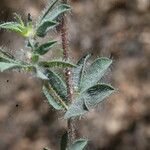
[[[46,0],[1,0],[0,21],[13,12],[37,18]],[[87,150],[150,150],[150,0],[72,0],[69,42],[77,60],[87,52],[114,60],[108,80],[118,92],[76,127]],[[53,33],[56,37],[57,34]],[[23,39],[0,31],[0,45],[23,57]],[[66,124],[30,75],[0,73],[0,150],[59,149]]]

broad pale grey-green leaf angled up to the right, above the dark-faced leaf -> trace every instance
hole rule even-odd
[[[108,58],[98,58],[96,59],[87,72],[84,74],[81,83],[81,91],[88,89],[95,85],[102,76],[106,73],[109,66],[112,64],[112,60]]]

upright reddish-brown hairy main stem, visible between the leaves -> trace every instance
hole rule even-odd
[[[62,0],[63,4],[68,4],[68,0]],[[63,56],[65,60],[69,59],[69,46],[68,46],[68,35],[67,35],[67,18],[63,14],[61,20],[61,38],[62,38],[62,48],[63,48]],[[67,84],[67,93],[68,93],[68,101],[70,104],[73,101],[73,87],[72,87],[72,73],[70,69],[65,70],[66,75],[66,84]],[[68,126],[68,145],[71,145],[75,140],[75,120],[70,118],[67,121]]]

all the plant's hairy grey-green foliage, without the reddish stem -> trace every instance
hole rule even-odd
[[[108,58],[97,58],[90,66],[88,65],[90,54],[82,57],[76,65],[63,59],[48,61],[41,59],[58,43],[54,39],[39,43],[37,39],[44,38],[49,30],[54,30],[59,25],[58,18],[70,9],[69,5],[54,0],[36,22],[28,17],[26,23],[15,13],[14,22],[0,24],[0,29],[15,32],[24,37],[25,48],[29,51],[28,61],[23,61],[0,48],[0,72],[16,68],[32,72],[34,76],[43,80],[42,91],[49,105],[56,110],[65,110],[65,119],[86,114],[115,91],[111,85],[100,83],[101,78],[105,76],[112,64],[112,60]],[[68,101],[66,82],[53,68],[71,68],[74,89],[72,104]],[[67,134],[65,134],[62,137],[61,150],[83,150],[87,144],[86,139],[79,139],[67,147],[67,140]]]

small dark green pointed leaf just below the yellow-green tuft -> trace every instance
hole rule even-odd
[[[46,54],[55,44],[57,43],[57,41],[50,41],[48,43],[44,43],[42,45],[40,45],[37,49],[35,49],[35,53],[39,54],[39,55],[44,55]]]

